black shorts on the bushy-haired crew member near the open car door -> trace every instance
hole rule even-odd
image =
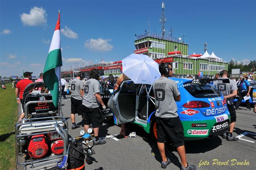
[[[79,109],[79,113],[82,113],[83,123],[85,125],[93,125],[93,128],[102,126],[102,117],[99,112],[99,108],[88,108],[82,105]]]

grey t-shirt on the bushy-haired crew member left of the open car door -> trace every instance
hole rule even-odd
[[[85,82],[85,90],[82,104],[88,108],[99,107],[95,93],[100,92],[100,83],[96,79],[89,79]]]

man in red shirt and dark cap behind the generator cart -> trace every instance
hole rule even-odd
[[[33,83],[33,81],[31,81],[32,73],[33,72],[24,72],[24,74],[23,74],[24,79],[20,80],[16,85],[16,89],[15,89],[15,94],[17,97],[16,100],[17,100],[18,104],[21,103],[22,110],[23,110],[23,113],[20,115],[19,120],[21,120],[25,116],[25,111],[24,111],[24,102],[25,101],[23,100],[23,92],[24,92],[25,88],[27,87],[27,85],[29,85],[30,83]]]

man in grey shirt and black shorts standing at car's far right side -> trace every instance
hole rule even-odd
[[[228,71],[223,70],[220,72],[221,78],[219,79],[228,79]],[[230,113],[230,129],[229,132],[223,133],[222,137],[228,141],[237,141],[238,138],[232,135],[234,127],[236,125],[236,110],[233,105],[233,98],[237,94],[236,82],[229,79],[229,83],[223,83],[222,80],[214,81],[213,86],[219,90],[224,96],[224,99],[227,101],[228,111]]]

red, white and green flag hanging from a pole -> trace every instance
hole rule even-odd
[[[60,48],[60,13],[52,36],[49,53],[45,62],[43,80],[52,94],[54,106],[59,102],[59,71],[62,66]]]

